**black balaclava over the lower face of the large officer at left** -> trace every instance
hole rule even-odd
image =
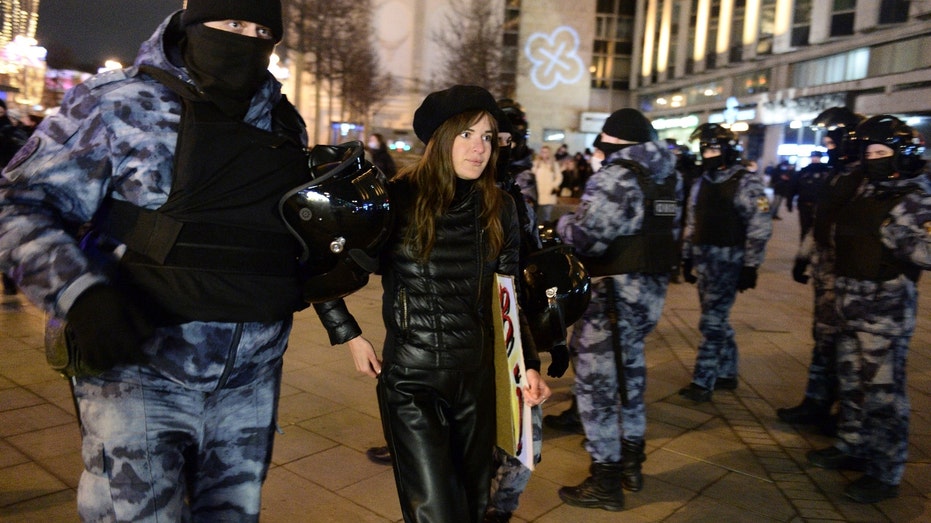
[[[226,115],[242,119],[267,79],[274,40],[244,36],[203,24],[185,28],[184,64],[204,96]]]

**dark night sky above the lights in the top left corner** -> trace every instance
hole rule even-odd
[[[41,0],[36,40],[48,66],[96,72],[108,59],[130,65],[182,0]]]

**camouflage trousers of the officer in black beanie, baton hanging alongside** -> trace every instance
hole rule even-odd
[[[613,280],[614,296],[608,294]],[[585,429],[585,449],[599,463],[621,460],[621,439],[643,441],[646,433],[644,339],[656,327],[669,275],[622,274],[592,282],[592,299],[575,324],[570,347],[576,354],[574,390]],[[613,299],[617,323],[612,329]],[[615,342],[613,335],[617,335]],[[622,374],[615,359],[622,353]],[[623,398],[626,395],[626,402]]]

